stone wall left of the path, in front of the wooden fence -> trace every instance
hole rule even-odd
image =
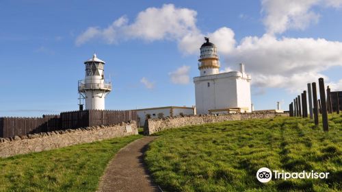
[[[138,134],[135,121],[118,125],[98,125],[75,130],[61,130],[0,138],[0,157],[42,152],[80,143],[92,143],[103,139]]]

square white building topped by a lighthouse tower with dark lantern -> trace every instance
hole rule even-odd
[[[205,38],[200,47],[198,69],[194,77],[197,114],[251,112],[250,80],[244,64],[240,71],[219,73],[220,61],[216,46]]]

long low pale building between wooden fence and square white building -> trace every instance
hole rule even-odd
[[[161,117],[174,117],[179,115],[194,115],[195,108],[166,106],[160,108],[137,109],[137,117],[140,126],[144,126],[146,119],[156,119]]]

